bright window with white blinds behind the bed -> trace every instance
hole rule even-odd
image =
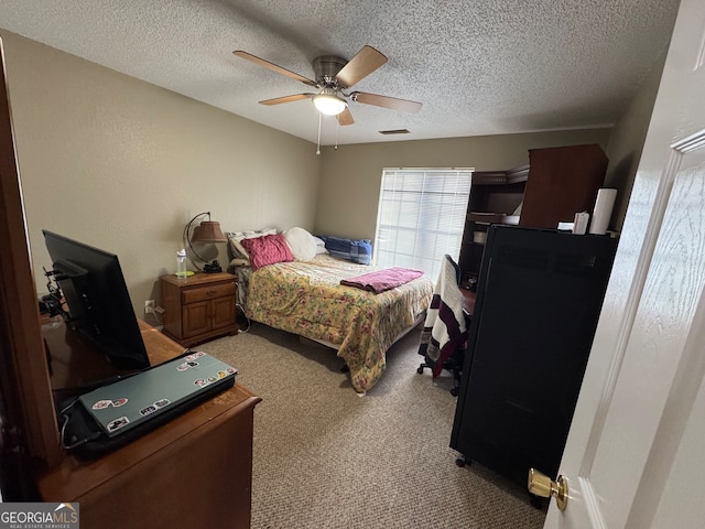
[[[386,169],[377,213],[375,263],[438,276],[443,256],[458,260],[471,169]]]

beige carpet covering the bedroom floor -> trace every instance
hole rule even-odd
[[[522,487],[448,447],[449,374],[416,374],[419,331],[358,397],[335,352],[252,324],[197,348],[239,370],[254,410],[252,528],[540,528]]]

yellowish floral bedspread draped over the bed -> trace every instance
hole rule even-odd
[[[270,264],[251,272],[245,312],[271,327],[338,346],[352,387],[365,392],[382,376],[387,349],[433,295],[425,276],[379,294],[340,284],[371,270],[327,255]]]

